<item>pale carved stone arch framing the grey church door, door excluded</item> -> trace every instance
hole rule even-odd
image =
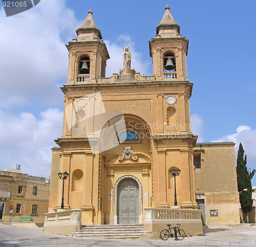
[[[130,174],[120,176],[114,185],[114,224],[117,224],[117,188],[119,183],[126,178],[134,179],[139,186],[139,224],[141,224],[142,223],[142,185],[136,176],[130,175]]]

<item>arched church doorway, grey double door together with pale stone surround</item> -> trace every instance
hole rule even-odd
[[[124,175],[114,186],[114,224],[142,223],[142,188],[139,179]]]

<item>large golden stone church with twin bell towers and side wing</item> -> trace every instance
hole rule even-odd
[[[152,230],[157,220],[240,222],[234,144],[197,143],[191,132],[188,39],[168,5],[156,30],[149,41],[152,76],[132,69],[124,46],[123,69],[105,78],[110,55],[91,10],[67,45],[49,212],[60,209],[58,172],[67,171],[64,210],[79,209],[81,224],[147,224]]]

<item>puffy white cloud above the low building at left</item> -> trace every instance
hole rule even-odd
[[[0,170],[22,164],[24,173],[49,177],[51,148],[57,146],[53,139],[61,137],[62,121],[58,108],[42,111],[39,119],[31,113],[10,116],[0,111]]]

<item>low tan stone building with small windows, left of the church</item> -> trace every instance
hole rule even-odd
[[[33,222],[44,222],[49,182],[45,177],[22,173],[19,165],[17,169],[0,171],[0,220],[18,222],[20,217],[32,217]]]

